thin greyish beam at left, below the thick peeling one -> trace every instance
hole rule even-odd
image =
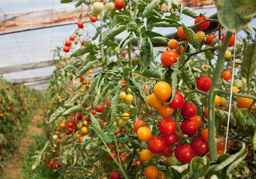
[[[0,68],[0,75],[12,73],[12,72],[20,72],[24,70],[51,67],[51,66],[54,66],[56,63],[57,63],[57,60],[49,60],[49,61],[28,63],[24,65],[17,65],[17,66],[11,66],[11,67],[3,67],[3,68]]]

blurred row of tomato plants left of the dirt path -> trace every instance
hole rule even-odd
[[[4,167],[2,162],[19,147],[19,140],[42,98],[38,90],[0,78],[0,169]]]

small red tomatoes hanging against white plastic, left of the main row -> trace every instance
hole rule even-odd
[[[83,29],[84,28],[84,23],[83,22],[78,22],[77,26],[78,26],[78,28]],[[70,47],[72,46],[72,42],[75,45],[78,44],[78,42],[80,41],[80,39],[78,38],[78,34],[79,34],[79,30],[77,30],[75,34],[71,35],[69,37],[69,40],[65,40],[65,43],[64,43],[65,46],[63,47],[63,51],[69,52],[70,51]],[[86,43],[86,40],[85,39],[82,40],[81,41],[81,46],[85,45],[85,43]]]

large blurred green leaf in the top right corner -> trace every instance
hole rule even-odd
[[[218,8],[218,20],[233,33],[249,28],[256,13],[256,0],[214,0]]]

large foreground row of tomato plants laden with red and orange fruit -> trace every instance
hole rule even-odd
[[[247,27],[256,2],[214,2],[218,19],[174,0],[77,1],[91,20],[56,50],[51,138],[33,168],[61,178],[253,179],[256,43]],[[85,23],[96,30],[86,41]],[[176,33],[169,39],[154,27]]]

